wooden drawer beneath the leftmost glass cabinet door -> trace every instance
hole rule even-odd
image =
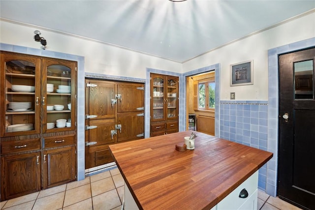
[[[40,150],[40,139],[1,142],[1,154]]]

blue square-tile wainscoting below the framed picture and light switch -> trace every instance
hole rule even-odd
[[[220,138],[267,150],[268,101],[220,101]],[[258,188],[266,191],[267,166],[259,169]]]

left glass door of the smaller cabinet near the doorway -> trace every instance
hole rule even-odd
[[[152,120],[165,120],[164,116],[164,81],[165,78],[161,76],[152,77],[152,92],[151,97],[153,99],[153,113]]]

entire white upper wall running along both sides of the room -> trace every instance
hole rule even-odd
[[[84,56],[85,72],[145,79],[146,68],[183,73],[220,63],[221,100],[228,100],[230,92],[235,92],[236,100],[268,100],[268,49],[315,37],[315,13],[235,41],[183,64],[3,20],[0,21],[0,42],[39,48],[39,42],[33,40],[34,30],[40,30],[47,40],[47,50]],[[230,87],[230,64],[246,60],[253,60],[254,84]]]

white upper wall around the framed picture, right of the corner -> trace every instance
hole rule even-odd
[[[315,37],[315,13],[236,41],[183,63],[183,72],[221,64],[220,99],[268,100],[268,50]],[[253,60],[253,85],[230,87],[230,64]]]

